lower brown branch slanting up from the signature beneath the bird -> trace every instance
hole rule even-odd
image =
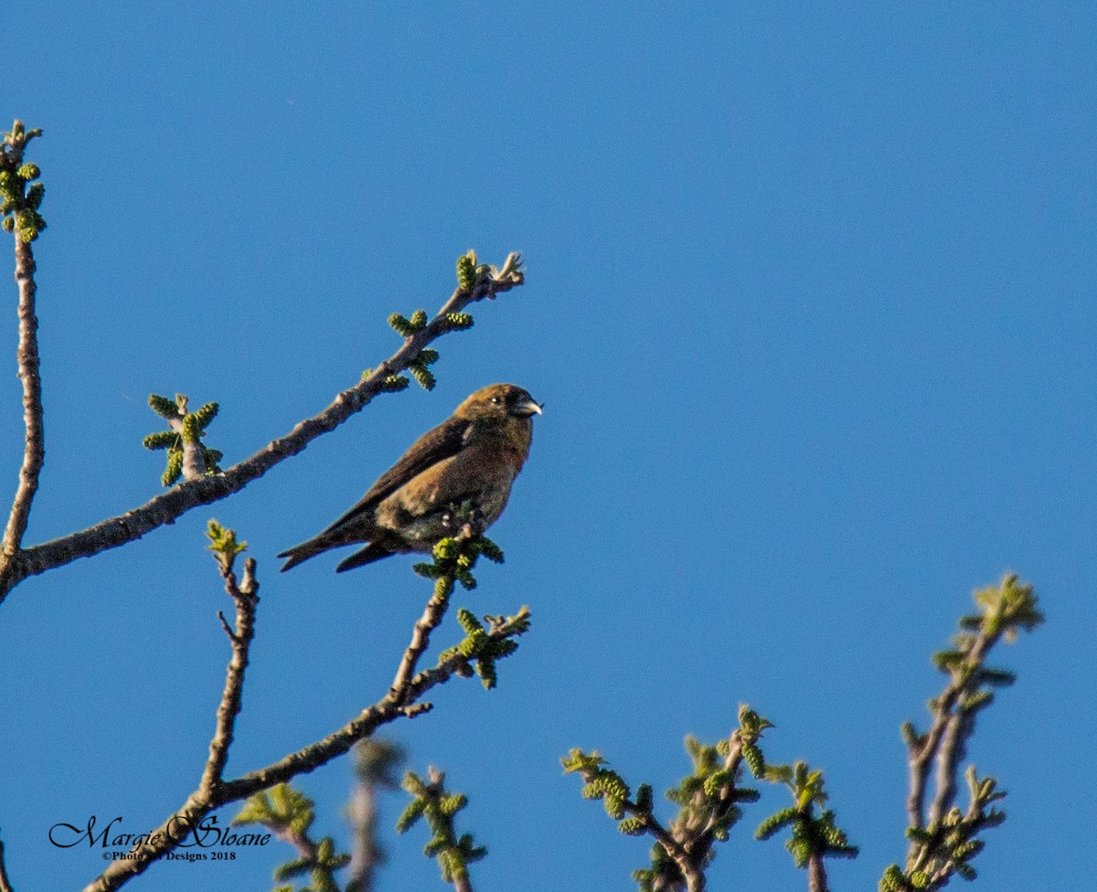
[[[488,637],[498,640],[522,634],[527,623],[520,617],[516,617],[513,622],[495,625],[487,633]],[[441,616],[438,617],[438,620],[441,621]],[[418,632],[412,633],[412,644]],[[410,647],[411,645],[409,645],[409,650]],[[412,658],[405,652],[402,665],[409,660]],[[158,856],[171,851],[182,842],[179,838],[178,827],[195,826],[205,815],[223,805],[247,799],[252,793],[265,790],[275,783],[313,771],[343,755],[358,741],[369,737],[382,725],[402,716],[410,718],[423,712],[430,708],[429,704],[415,701],[431,688],[448,681],[462,666],[466,665],[464,657],[455,654],[442,660],[434,668],[420,671],[410,680],[406,680],[403,688],[389,691],[338,731],[321,741],[289,754],[265,768],[250,771],[234,780],[223,780],[213,784],[205,783],[204,775],[203,783],[200,784],[199,789],[191,793],[183,805],[150,835],[150,842],[142,848],[142,854],[146,857],[111,862],[106,870],[86,887],[84,892],[112,892],[134,877],[144,873]],[[227,688],[228,682],[226,681],[226,690]],[[220,709],[218,709],[218,726],[219,723]],[[211,744],[211,761],[207,763],[206,774],[210,774],[210,765],[214,759],[213,749],[214,745]],[[176,828],[174,834],[172,834],[172,828]]]

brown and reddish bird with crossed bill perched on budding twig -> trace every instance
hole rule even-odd
[[[282,572],[329,549],[365,542],[337,573],[393,554],[431,552],[472,512],[479,531],[502,513],[530,453],[533,416],[543,406],[514,384],[471,394],[453,415],[416,440],[365,495],[330,527],[282,552]],[[461,515],[462,517],[464,515]]]

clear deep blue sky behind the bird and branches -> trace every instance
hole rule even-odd
[[[428,594],[412,562],[281,576],[274,555],[494,381],[546,411],[494,529],[507,563],[456,603],[528,603],[534,629],[498,690],[451,684],[392,730],[468,793],[479,892],[633,888],[646,843],[557,758],[599,748],[669,788],[682,736],[726,735],[739,702],[777,724],[772,760],[825,769],[861,846],[833,888],[874,888],[905,850],[898,724],[924,720],[928,657],[971,589],[1007,571],[1048,623],[998,654],[1020,680],[971,747],[1010,793],[980,888],[1088,876],[1093,9],[298,7],[20,4],[0,108],[46,131],[49,222],[27,540],[159,490],[150,392],[219,402],[210,443],[238,461],[392,353],[385,318],[441,305],[460,253],[521,250],[528,283],[440,342],[434,392],[378,399],[238,497],[0,608],[19,892],[102,868],[53,848],[52,824],[148,828],[196,782],[228,658],[210,517],[262,585],[229,772],[383,695]],[[19,398],[12,375],[12,492]],[[451,618],[438,641],[457,633]],[[346,760],[302,779],[321,833],[344,834],[349,786]],[[748,811],[712,888],[805,888],[750,839],[783,804]],[[384,808],[391,824],[402,802]],[[392,842],[382,892],[442,888],[423,842]],[[285,855],[165,863],[132,888],[267,889]]]

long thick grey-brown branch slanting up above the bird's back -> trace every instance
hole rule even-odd
[[[77,558],[89,557],[140,539],[158,527],[174,522],[191,508],[218,501],[242,489],[251,481],[261,477],[291,455],[297,454],[317,437],[335,430],[367,406],[385,389],[385,379],[410,366],[425,347],[452,329],[446,318],[449,314],[459,313],[485,297],[494,298],[520,283],[520,278],[518,280],[488,278],[472,290],[459,287],[427,326],[405,338],[400,349],[374,369],[364,381],[340,393],[319,415],[298,422],[287,434],[271,441],[223,474],[186,481],[124,515],[18,552],[11,561],[10,572],[0,578],[0,601],[13,586],[27,576],[45,573]]]

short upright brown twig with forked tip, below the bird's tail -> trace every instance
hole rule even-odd
[[[208,797],[222,782],[228,748],[233,745],[236,716],[240,714],[244,692],[244,673],[248,667],[248,650],[256,634],[256,608],[259,606],[259,583],[256,582],[256,560],[244,562],[244,582],[236,584],[236,574],[230,568],[223,572],[225,591],[236,605],[236,631],[229,630],[224,614],[218,610],[222,626],[233,643],[233,656],[225,669],[225,690],[217,707],[217,730],[210,742],[210,758],[206,760],[199,792]]]

